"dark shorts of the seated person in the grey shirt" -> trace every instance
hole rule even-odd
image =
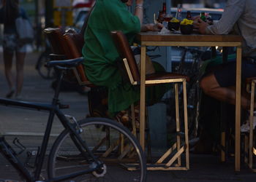
[[[246,78],[256,77],[256,61],[242,60],[241,64],[241,83],[245,82]],[[230,87],[236,85],[236,61],[220,65],[214,70],[214,76],[217,79],[220,87]]]

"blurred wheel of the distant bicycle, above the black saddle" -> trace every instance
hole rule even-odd
[[[45,66],[48,61],[50,61],[49,52],[42,52],[37,60],[36,69],[43,79],[54,79],[56,78],[54,69]]]

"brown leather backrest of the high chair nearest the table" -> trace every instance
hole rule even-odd
[[[116,45],[116,49],[119,53],[120,58],[123,60],[126,59],[128,62],[129,70],[132,74],[133,81],[139,82],[140,72],[138,70],[135,56],[132,52],[131,47],[129,46],[127,37],[121,31],[111,31],[111,35],[113,37],[113,41],[114,41],[114,44]]]

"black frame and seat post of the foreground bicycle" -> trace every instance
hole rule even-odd
[[[63,68],[62,68],[63,69]],[[42,170],[43,161],[45,159],[45,153],[48,146],[48,141],[50,138],[50,130],[53,124],[53,118],[56,114],[58,116],[61,124],[64,126],[65,129],[69,130],[71,132],[70,136],[72,138],[72,141],[75,143],[75,146],[78,147],[80,152],[84,155],[86,159],[88,157],[91,157],[94,162],[97,162],[97,167],[91,168],[89,170],[81,170],[76,173],[72,173],[70,175],[64,175],[59,178],[53,178],[49,179],[48,181],[60,181],[67,178],[72,178],[77,175],[81,175],[84,173],[90,173],[94,170],[97,170],[100,165],[102,165],[102,162],[99,162],[94,155],[89,150],[88,146],[86,145],[86,142],[83,141],[78,132],[75,130],[75,127],[72,126],[72,124],[68,121],[68,119],[64,116],[64,113],[59,109],[59,92],[60,92],[60,86],[61,86],[61,80],[64,75],[64,70],[60,70],[60,74],[58,74],[58,85],[56,87],[54,97],[51,104],[46,103],[33,103],[33,102],[26,102],[26,101],[19,101],[19,100],[10,100],[10,99],[4,99],[0,98],[0,105],[4,106],[18,106],[21,108],[34,108],[35,110],[39,111],[48,111],[50,114],[48,116],[48,124],[45,129],[45,135],[42,140],[42,144],[39,150],[39,154],[37,154],[38,162],[37,167],[34,171],[34,176],[32,176],[29,173],[29,170],[26,169],[26,167],[20,162],[18,159],[16,152],[12,149],[12,147],[7,143],[7,141],[4,140],[4,136],[0,135],[0,152],[4,155],[4,157],[12,164],[13,167],[15,167],[16,170],[22,175],[23,178],[26,179],[26,181],[39,181],[39,175]],[[81,147],[82,146],[82,147]],[[82,149],[83,148],[83,149]],[[87,152],[86,152],[87,151]]]

